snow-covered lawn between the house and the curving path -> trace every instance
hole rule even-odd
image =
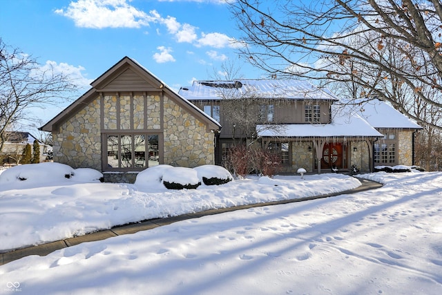
[[[88,175],[95,180],[99,176],[93,174],[94,171],[85,173],[83,169],[72,169],[63,164],[37,165],[17,166],[17,172],[11,169],[0,174],[0,253],[81,236],[128,222],[318,196],[361,185],[361,182],[346,175],[322,174],[308,175],[304,180],[296,175],[234,180],[219,186],[202,183],[198,189],[176,191],[166,189],[161,183],[164,171],[173,169],[167,165],[146,169],[135,184],[92,180],[87,183]],[[65,175],[73,176],[65,178]],[[178,183],[186,178],[189,176],[169,173],[167,180]]]

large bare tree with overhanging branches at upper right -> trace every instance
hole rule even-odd
[[[380,97],[442,130],[414,110],[416,99],[442,109],[440,1],[238,0],[231,10],[244,32],[242,54],[269,75],[352,82],[355,97]]]

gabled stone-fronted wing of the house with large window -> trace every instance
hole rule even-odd
[[[133,182],[157,164],[214,164],[221,126],[135,60],[124,57],[41,127],[54,162],[89,167],[105,181]]]

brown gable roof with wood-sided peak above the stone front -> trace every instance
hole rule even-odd
[[[92,99],[95,99],[97,93],[105,91],[163,91],[169,95],[169,97],[175,99],[186,111],[189,111],[189,113],[204,122],[209,130],[219,130],[221,128],[221,125],[212,117],[206,115],[206,113],[201,111],[197,106],[177,94],[162,82],[162,80],[158,79],[153,73],[130,57],[123,57],[117,64],[106,70],[105,73],[95,79],[90,85],[92,88],[52,118],[52,120],[44,124],[44,126],[41,126],[40,130],[55,130],[59,124],[66,122],[66,120],[75,115],[81,108],[84,108]]]

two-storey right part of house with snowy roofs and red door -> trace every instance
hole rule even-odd
[[[244,117],[254,114],[255,136],[262,147],[280,154],[282,173],[299,168],[349,172],[352,165],[373,171],[374,165],[413,162],[413,133],[420,127],[384,102],[355,111],[329,91],[298,80],[195,81],[178,93],[223,126],[216,138],[216,164],[222,164],[238,139],[247,141],[238,132],[241,118],[232,122],[231,106],[240,106],[229,102],[244,97],[253,97],[255,104],[248,106],[253,110],[242,110]]]

